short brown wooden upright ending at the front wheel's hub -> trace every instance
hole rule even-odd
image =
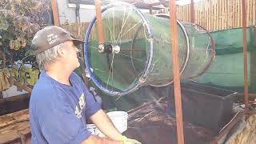
[[[104,43],[103,30],[102,30],[102,8],[100,0],[95,0],[95,10],[97,18],[97,31],[98,31],[98,42],[100,44]]]

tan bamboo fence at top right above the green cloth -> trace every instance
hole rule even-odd
[[[168,10],[164,10],[168,11]],[[178,19],[190,22],[190,5],[177,7]],[[194,2],[195,23],[207,30],[242,27],[242,0],[206,0]],[[246,0],[247,26],[256,25],[256,1]]]

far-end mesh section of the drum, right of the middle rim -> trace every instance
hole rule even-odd
[[[182,24],[190,39],[190,58],[182,78],[192,78],[201,75],[210,66],[215,54],[214,41],[202,26]]]

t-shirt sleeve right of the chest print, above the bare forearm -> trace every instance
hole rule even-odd
[[[101,106],[94,96],[90,94],[89,90],[85,87],[84,94],[86,95],[86,118],[90,118],[91,115],[95,114],[98,110],[101,109]]]

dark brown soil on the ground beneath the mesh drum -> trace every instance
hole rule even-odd
[[[177,143],[176,121],[166,113],[167,102],[147,102],[129,111],[128,130],[125,135],[146,144]],[[190,122],[183,122],[185,143],[206,144],[214,133]]]

